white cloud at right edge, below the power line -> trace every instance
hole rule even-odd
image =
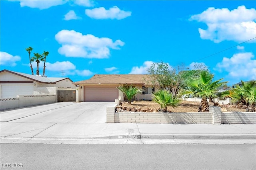
[[[234,54],[230,59],[224,57],[214,70],[226,71],[228,76],[235,78],[256,79],[256,59],[252,53]]]

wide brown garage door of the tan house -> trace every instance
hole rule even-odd
[[[85,102],[115,102],[118,99],[116,87],[84,87]]]

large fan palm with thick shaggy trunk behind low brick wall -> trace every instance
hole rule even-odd
[[[218,92],[219,88],[227,82],[220,82],[223,78],[213,81],[213,74],[208,71],[200,72],[198,78],[188,78],[185,81],[185,86],[187,89],[182,90],[181,94],[189,97],[202,98],[201,104],[198,108],[198,112],[209,112],[209,104],[207,98],[214,96]]]

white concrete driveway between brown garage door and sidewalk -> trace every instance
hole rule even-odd
[[[1,122],[106,123],[106,107],[114,102],[60,102],[1,111]]]

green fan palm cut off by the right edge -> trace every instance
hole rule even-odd
[[[256,80],[244,82],[241,80],[241,86],[236,84],[231,89],[230,97],[234,101],[244,103],[248,106],[247,111],[254,112],[256,105]]]

